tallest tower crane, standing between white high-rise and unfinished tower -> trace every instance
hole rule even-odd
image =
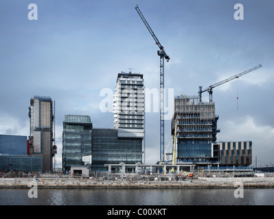
[[[150,28],[150,25],[148,25],[148,22],[146,21],[146,18],[141,13],[141,10],[139,9],[138,5],[135,6],[135,10],[137,10],[139,16],[141,17],[141,20],[146,25],[146,28],[148,28],[148,31],[150,32],[152,38],[155,40],[156,44],[159,47],[159,51],[157,51],[157,54],[160,56],[160,160],[162,159],[164,155],[164,131],[165,131],[165,123],[164,123],[164,62],[165,60],[168,62],[170,60],[170,57],[165,53],[165,49],[163,49],[163,46],[159,42],[158,38],[155,36],[154,32]]]

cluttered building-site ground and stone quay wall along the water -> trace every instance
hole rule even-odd
[[[209,177],[210,175],[210,177]],[[236,177],[237,176],[237,177]],[[50,188],[50,189],[183,189],[183,188],[235,188],[242,183],[245,188],[274,188],[273,173],[219,175],[218,172],[171,174],[109,174],[101,177],[73,177],[72,175],[41,174],[34,177],[0,178],[0,188]]]

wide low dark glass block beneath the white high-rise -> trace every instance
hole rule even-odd
[[[142,138],[118,138],[117,129],[93,129],[92,170],[107,170],[104,164],[142,162]]]

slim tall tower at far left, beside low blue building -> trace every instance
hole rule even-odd
[[[34,96],[30,99],[30,155],[43,158],[43,170],[52,171],[54,142],[53,102],[49,96]]]

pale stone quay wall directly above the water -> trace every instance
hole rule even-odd
[[[274,178],[200,178],[187,181],[110,181],[96,179],[43,179],[43,178],[1,178],[3,188],[64,188],[64,189],[168,189],[168,188],[236,188],[242,183],[244,188],[274,188]]]

